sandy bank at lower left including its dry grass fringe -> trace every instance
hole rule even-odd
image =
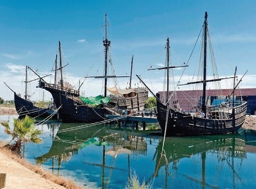
[[[0,171],[6,173],[7,189],[81,189],[74,182],[54,176],[4,147],[0,147]]]

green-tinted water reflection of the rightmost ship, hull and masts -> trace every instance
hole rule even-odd
[[[218,188],[217,183],[210,184],[206,181],[206,155],[208,153],[215,154],[217,157],[217,166],[220,165],[223,168],[223,164],[227,164],[232,170],[233,187],[235,187],[235,179],[237,178],[242,182],[238,172],[234,168],[234,158],[239,158],[242,162],[243,158],[246,158],[245,140],[239,134],[223,135],[223,136],[202,136],[202,137],[166,137],[165,144],[162,153],[163,140],[156,148],[153,160],[156,160],[155,171],[153,175],[148,179],[156,178],[159,176],[159,170],[164,167],[165,175],[165,188],[168,188],[168,176],[175,175],[183,176],[186,179],[191,180],[199,185],[202,185],[204,189],[206,186],[209,188]],[[165,155],[162,155],[165,154]],[[178,172],[178,164],[180,159],[198,158],[201,159],[200,164],[195,165],[197,168],[201,168],[201,179],[185,175]],[[192,160],[193,163],[198,163],[199,160]],[[171,170],[169,170],[171,166]],[[241,164],[240,164],[241,165]],[[220,168],[217,171],[216,177],[220,177]],[[231,177],[228,177],[231,179]],[[220,178],[216,178],[215,182],[220,182]]]

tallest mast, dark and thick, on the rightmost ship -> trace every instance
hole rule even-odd
[[[202,99],[202,111],[206,116],[206,46],[207,46],[207,12],[205,14],[204,22],[204,78],[203,78],[203,99]]]

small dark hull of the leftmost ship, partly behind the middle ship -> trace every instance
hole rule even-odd
[[[16,93],[14,93],[14,102],[16,111],[20,117],[25,117],[25,115],[28,115],[33,118],[47,117],[47,108],[36,107],[32,102],[23,99]]]

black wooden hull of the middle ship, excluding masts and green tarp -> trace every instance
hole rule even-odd
[[[101,105],[101,107],[94,108],[84,104],[78,97],[79,93],[75,93],[72,90],[60,90],[52,84],[47,84],[43,81],[40,81],[39,87],[46,89],[51,93],[56,107],[60,107],[58,114],[62,122],[90,123],[104,121],[106,114],[112,114],[114,112],[113,108],[108,108],[103,105]],[[148,96],[148,91],[138,92],[136,96],[127,100],[128,103],[126,101],[125,107],[127,108],[128,104],[131,108],[138,108],[141,110],[140,108],[142,108],[142,106],[144,107],[144,103],[147,99],[146,96]],[[142,103],[140,103],[140,99],[143,99]]]

